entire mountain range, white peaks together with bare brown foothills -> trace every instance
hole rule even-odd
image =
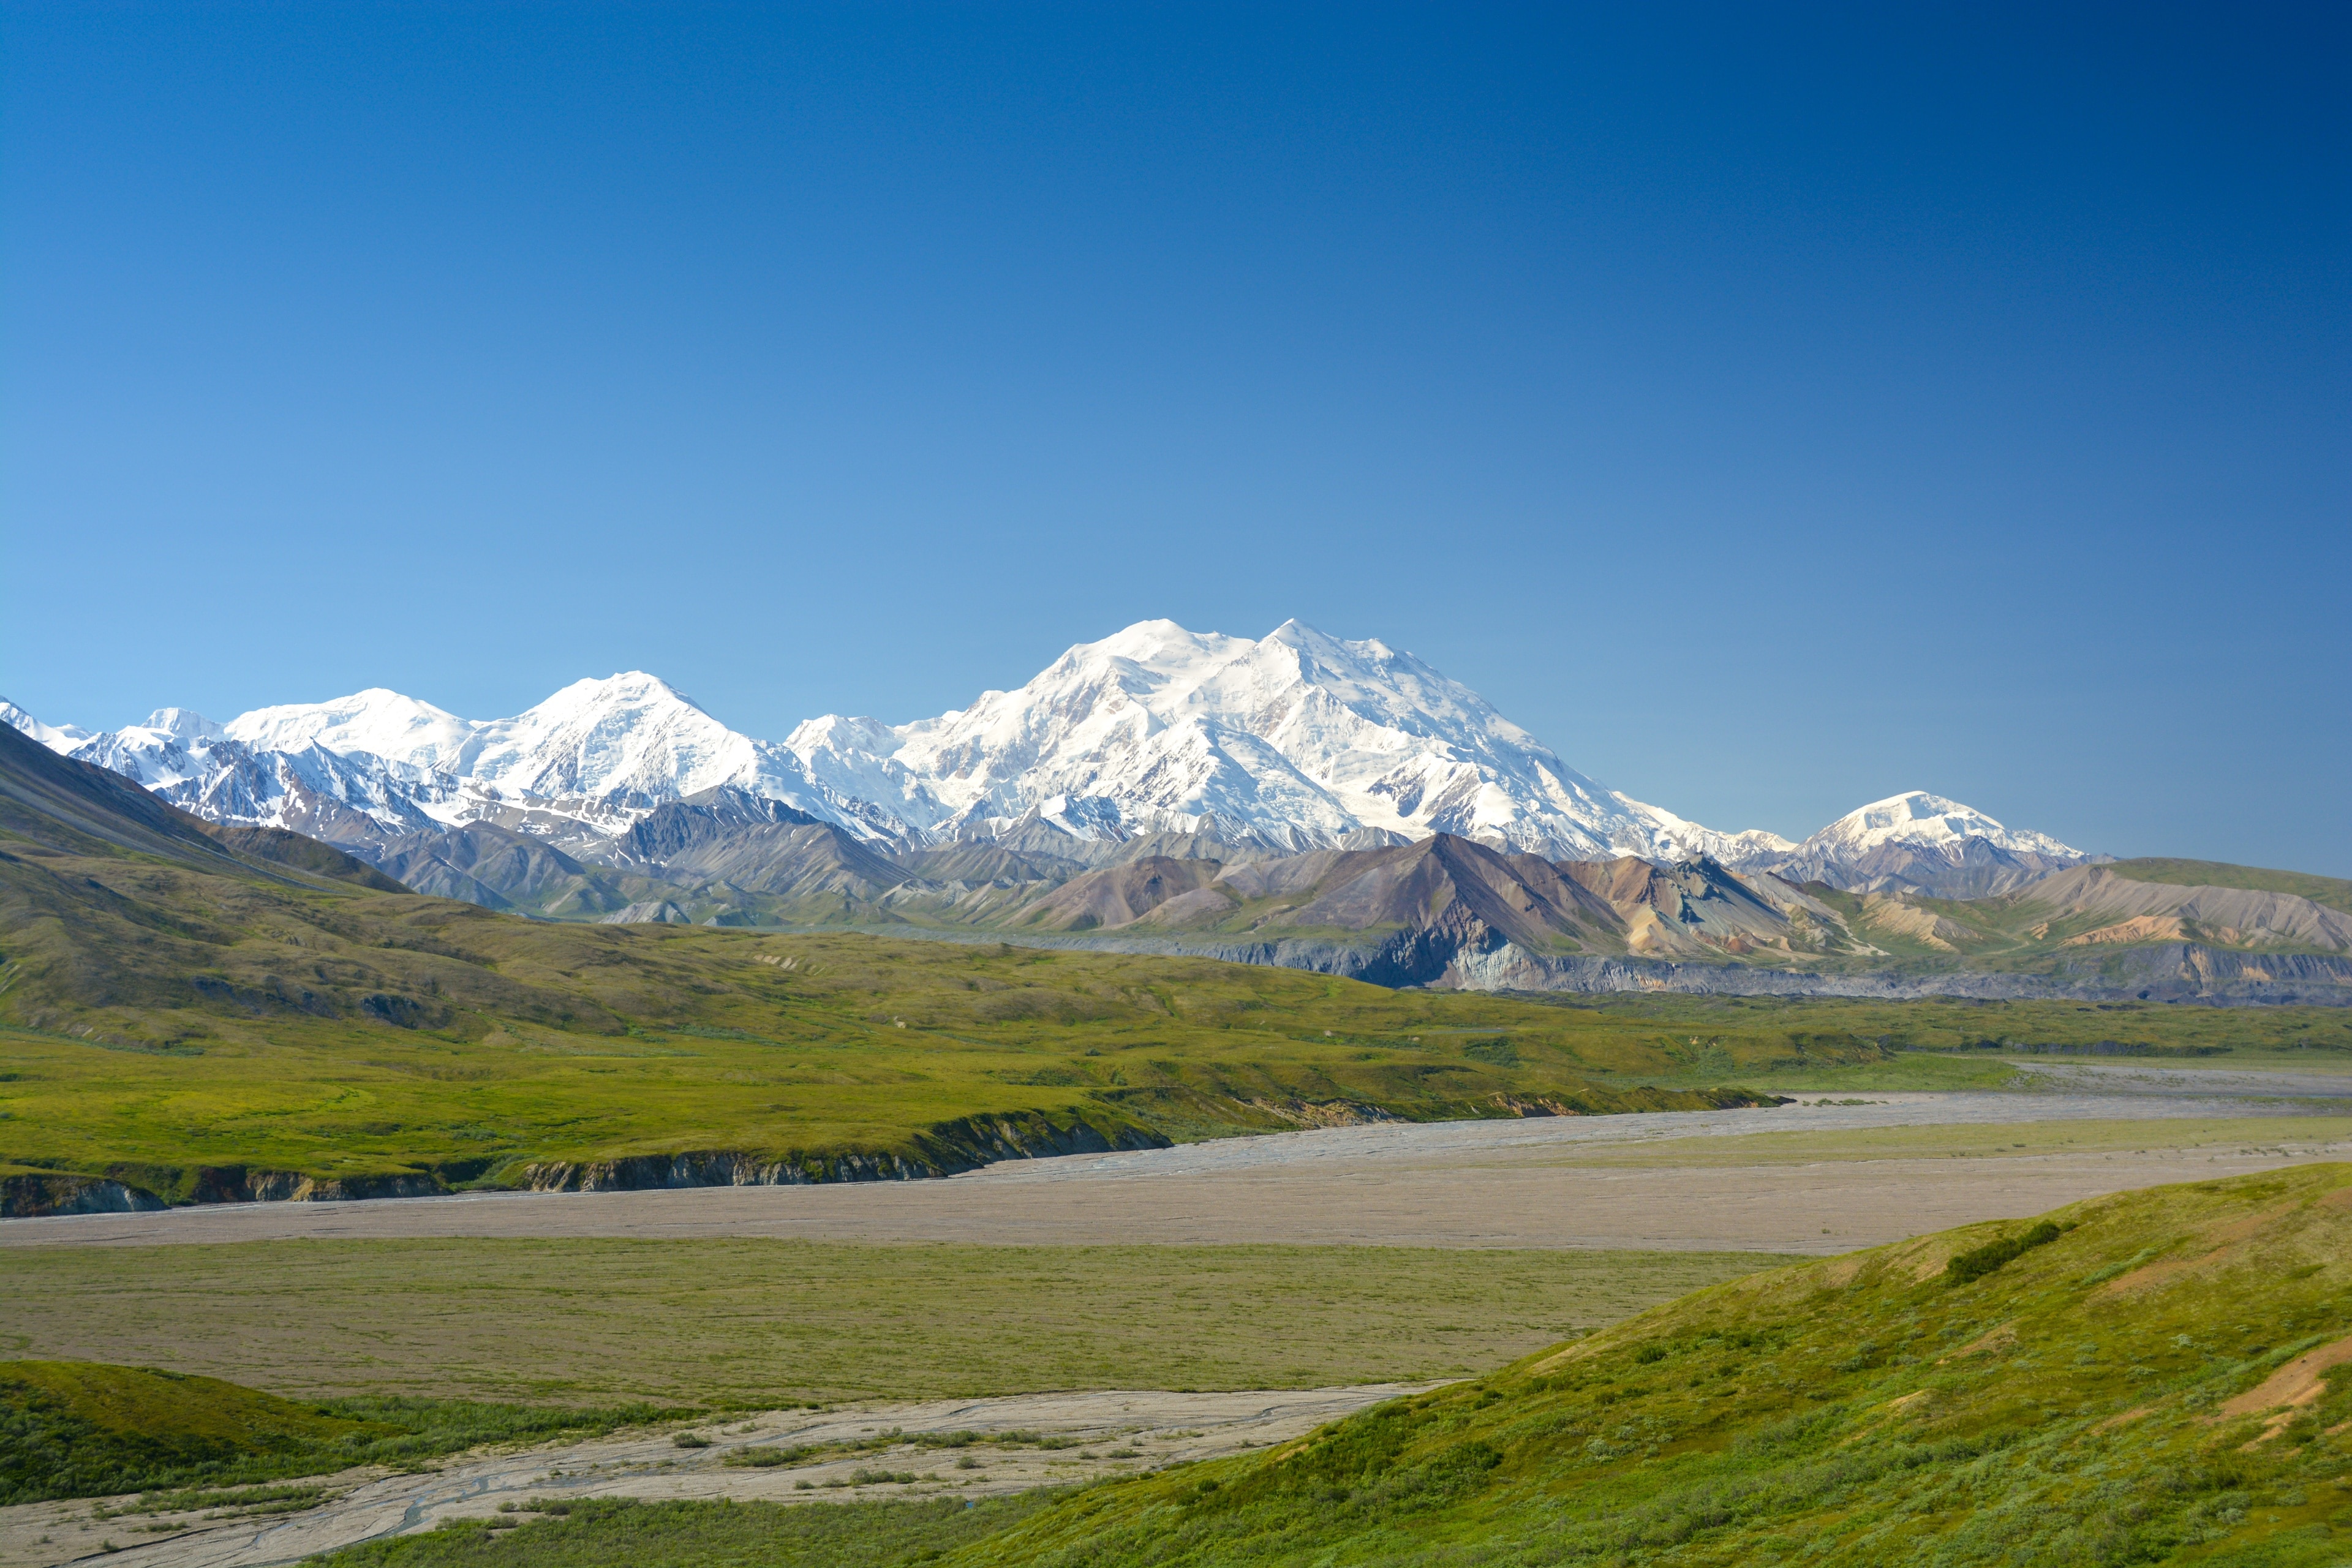
[[[1524,990],[1884,994],[1912,971],[2011,994],[2089,964],[2129,994],[2131,950],[2154,987],[2209,994],[2272,980],[2192,947],[2352,950],[2310,889],[2136,877],[1922,790],[1804,842],[1703,827],[1411,654],[1296,621],[1258,642],[1145,621],[936,719],[826,715],[781,743],[644,672],[487,722],[386,689],[108,733],[0,717],[209,823],[546,919],[993,931]]]

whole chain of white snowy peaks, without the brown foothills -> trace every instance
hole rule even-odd
[[[198,816],[346,846],[489,825],[604,858],[656,809],[731,790],[891,853],[990,842],[1089,865],[1454,835],[1545,860],[1712,858],[1792,882],[1957,891],[2084,860],[1926,792],[1804,844],[1717,832],[1588,778],[1421,658],[1298,621],[1256,642],[1141,621],[936,719],[826,715],[781,743],[727,729],[647,672],[574,682],[510,719],[388,689],[228,724],[158,710],[103,736],[16,708],[0,719]]]

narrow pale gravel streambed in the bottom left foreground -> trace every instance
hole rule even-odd
[[[92,1519],[96,1507],[120,1507],[122,1497],[85,1502],[33,1502],[0,1509],[0,1568],[33,1568],[103,1556],[122,1568],[261,1568],[296,1563],[383,1535],[430,1530],[442,1519],[482,1519],[501,1502],[534,1497],[734,1497],[736,1502],[842,1502],[854,1497],[936,1497],[1016,1493],[1033,1486],[1087,1481],[1094,1476],[1214,1460],[1242,1448],[1263,1448],[1312,1432],[1327,1420],[1369,1403],[1414,1394],[1435,1385],[1383,1382],[1343,1389],[1275,1389],[1228,1394],[1171,1394],[1112,1389],[1091,1394],[1023,1394],[1009,1399],[962,1399],[901,1406],[847,1406],[837,1410],[771,1410],[706,1422],[694,1432],[710,1448],[684,1450],[675,1429],[635,1432],[588,1443],[555,1443],[508,1453],[473,1453],[430,1474],[348,1472],[332,1476],[332,1502],[301,1514],[233,1521],[202,1514],[132,1514]],[[927,1448],[898,1443],[882,1450],[818,1453],[800,1465],[769,1469],[729,1467],[743,1448],[795,1443],[849,1443],[898,1427],[906,1436],[948,1432],[1037,1432],[1077,1439],[1077,1448]],[[1120,1450],[1124,1458],[1112,1458]],[[957,1469],[969,1455],[978,1469]],[[849,1483],[858,1469],[913,1472],[906,1483]],[[183,1526],[158,1537],[148,1526]],[[40,1537],[49,1540],[42,1542]],[[106,1554],[101,1542],[118,1552]]]

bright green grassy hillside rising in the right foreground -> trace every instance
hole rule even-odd
[[[2157,1187],[1703,1291],[948,1561],[2340,1563],[2352,1166]],[[2324,1359],[2324,1356],[2321,1356]],[[2260,1389],[2260,1392],[2258,1392]]]

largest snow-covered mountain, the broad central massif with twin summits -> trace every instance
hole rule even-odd
[[[1585,778],[1468,686],[1381,642],[1143,621],[1018,691],[915,724],[826,717],[786,741],[814,778],[943,837],[1021,820],[1080,839],[1258,837],[1294,849],[1454,832],[1585,858],[1722,839]]]

